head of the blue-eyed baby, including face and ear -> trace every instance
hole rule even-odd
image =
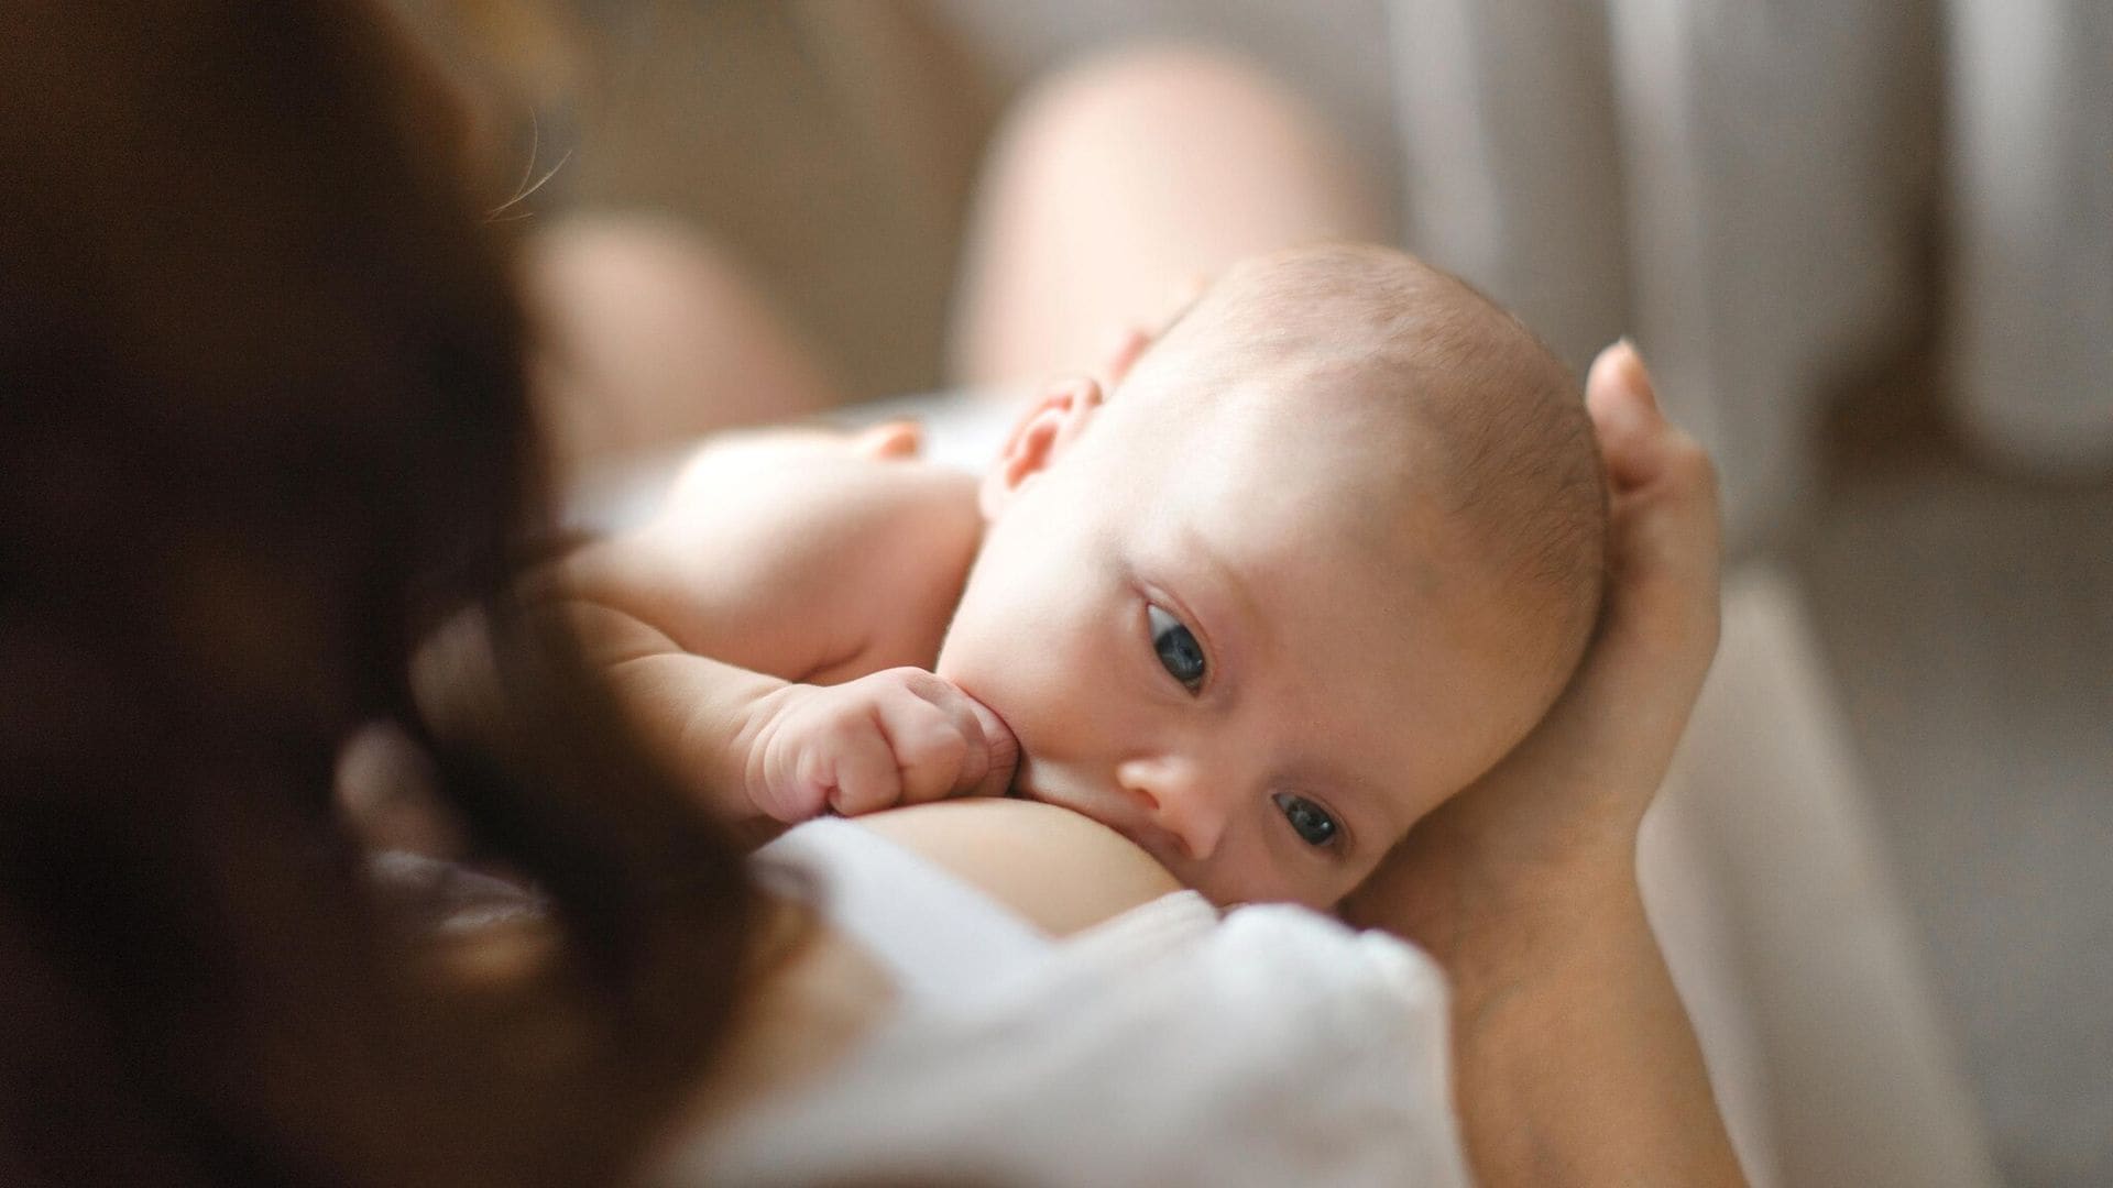
[[[1236,266],[1109,400],[1046,393],[983,503],[938,672],[1021,795],[1219,903],[1348,894],[1547,712],[1604,581],[1566,368],[1380,247]]]

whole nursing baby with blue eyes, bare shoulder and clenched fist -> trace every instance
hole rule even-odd
[[[735,816],[1082,812],[1217,903],[1331,907],[1555,700],[1606,484],[1566,368],[1399,252],[1232,268],[972,476],[904,429],[706,448],[547,577]]]

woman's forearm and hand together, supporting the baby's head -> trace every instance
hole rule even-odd
[[[1587,402],[1614,490],[1608,607],[1585,664],[1346,913],[1450,972],[1483,1184],[1741,1184],[1635,884],[1638,827],[1716,651],[1716,480],[1629,345],[1602,351]]]

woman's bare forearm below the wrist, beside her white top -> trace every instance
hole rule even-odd
[[[1473,903],[1426,941],[1454,981],[1481,1184],[1743,1184],[1633,869],[1559,903]]]

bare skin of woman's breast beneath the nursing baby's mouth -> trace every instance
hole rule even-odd
[[[858,824],[1050,936],[1071,936],[1181,890],[1166,867],[1128,837],[1037,801],[938,801],[862,816]]]

